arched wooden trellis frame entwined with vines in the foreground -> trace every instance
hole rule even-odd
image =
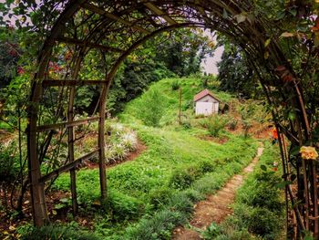
[[[250,13],[252,2],[245,1],[89,1],[70,0],[61,11],[46,37],[37,59],[37,70],[32,81],[30,104],[28,108],[27,149],[29,180],[31,183],[32,209],[36,225],[44,224],[46,214],[45,183],[61,172],[70,172],[73,211],[77,213],[76,167],[80,162],[98,154],[101,198],[106,198],[105,169],[105,114],[108,89],[120,64],[137,47],[164,31],[179,27],[205,27],[230,37],[246,53],[254,68],[266,98],[272,106],[273,120],[280,136],[284,135],[292,146],[303,146],[312,138],[312,116],[306,112],[304,89],[300,76],[287,59],[280,44],[277,28],[262,13],[243,21],[236,18],[242,13]],[[277,37],[276,37],[277,36]],[[270,37],[272,40],[269,41]],[[73,47],[69,71],[65,78],[52,78],[49,74],[50,61],[59,44]],[[98,49],[104,57],[106,74],[104,79],[90,80],[79,78],[84,58],[91,49]],[[108,57],[108,60],[106,60]],[[108,68],[107,68],[108,67]],[[283,73],[284,71],[284,73]],[[283,81],[284,76],[290,76]],[[74,100],[78,86],[94,85],[100,87],[98,116],[75,120]],[[59,123],[43,124],[39,110],[44,89],[67,88],[67,120]],[[278,94],[281,97],[275,97]],[[293,120],[283,118],[281,102],[291,106],[295,112]],[[61,106],[59,106],[61,107]],[[57,110],[59,111],[59,110]],[[98,148],[75,159],[75,127],[91,121],[98,121]],[[54,130],[67,130],[67,162],[53,172],[41,174],[41,162]],[[45,136],[46,147],[39,148],[41,132]],[[291,180],[293,168],[296,169],[298,196],[287,185],[286,201],[293,203],[293,213],[297,219],[298,234],[309,230],[318,235],[317,177],[315,162],[292,159],[284,139],[279,138],[283,179]],[[292,148],[293,148],[292,147]],[[291,149],[292,149],[291,148]],[[302,204],[295,204],[298,200]]]

